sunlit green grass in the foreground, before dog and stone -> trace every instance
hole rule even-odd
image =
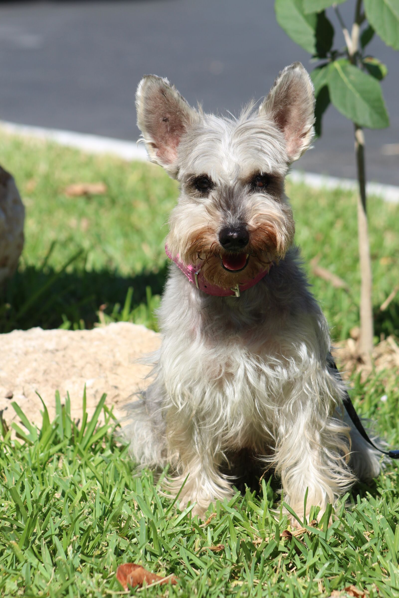
[[[355,389],[366,399],[363,412],[396,444],[398,384],[399,377],[386,402],[378,401],[381,380]],[[1,441],[1,596],[118,596],[115,571],[126,562],[179,579],[135,590],[142,596],[311,598],[349,585],[370,598],[399,596],[399,472],[391,463],[370,487],[343,497],[330,527],[323,518],[298,538],[282,536],[287,517],[267,477],[258,492],[217,502],[203,526],[190,507],[180,511],[157,492],[150,472],[135,472],[113,440],[108,409],[98,424],[102,401],[92,420],[83,411],[80,427],[70,404],[57,396],[56,419],[44,410],[39,430],[17,411],[19,438],[8,431]]]

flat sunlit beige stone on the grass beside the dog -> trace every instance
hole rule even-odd
[[[54,395],[69,392],[74,419],[81,418],[86,384],[89,415],[105,392],[106,405],[123,416],[123,406],[147,384],[150,366],[140,362],[158,349],[160,335],[144,326],[118,322],[93,330],[14,330],[0,334],[0,411],[7,425],[19,421],[11,403],[16,401],[29,420],[41,423],[45,402],[50,419]],[[12,396],[11,396],[12,395]]]

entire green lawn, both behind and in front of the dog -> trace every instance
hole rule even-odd
[[[14,173],[26,205],[20,269],[0,298],[0,328],[92,327],[127,319],[156,327],[153,309],[166,275],[163,239],[177,190],[162,171],[4,136],[0,163]],[[77,182],[103,182],[104,195],[68,197]],[[358,323],[355,197],[287,185],[306,263],[340,276],[349,291],[310,276],[334,338]],[[380,304],[397,284],[399,206],[370,199],[376,334],[399,335],[399,305]],[[391,446],[399,446],[399,373],[352,379],[352,398]],[[62,399],[62,400],[61,400]],[[18,412],[17,438],[0,440],[0,596],[118,596],[117,565],[140,563],[178,584],[142,596],[399,596],[399,474],[388,462],[322,520],[287,532],[278,483],[236,493],[202,523],[157,492],[115,443],[117,423],[100,402],[88,421],[71,421],[56,396],[54,422],[41,429]],[[71,397],[71,401],[74,397]],[[15,405],[18,411],[17,405]],[[105,424],[98,425],[100,411]],[[284,532],[284,533],[283,533]],[[352,592],[352,596],[354,593]]]

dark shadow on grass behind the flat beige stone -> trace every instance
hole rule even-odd
[[[132,277],[107,270],[57,272],[28,266],[0,292],[0,332],[36,326],[93,328],[99,319],[156,329],[154,310],[166,273],[166,264],[159,271]]]

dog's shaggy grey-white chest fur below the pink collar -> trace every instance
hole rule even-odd
[[[317,376],[329,349],[296,251],[240,298],[205,295],[172,267],[160,322],[169,400],[229,446],[272,437],[276,420],[296,408],[298,380]]]

